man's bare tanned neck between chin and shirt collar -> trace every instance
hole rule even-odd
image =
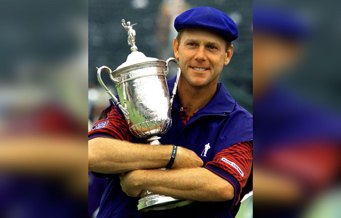
[[[188,116],[205,107],[216,91],[217,83],[195,87],[190,85],[183,77],[180,77],[178,85],[179,98],[181,104],[187,107],[186,114]]]

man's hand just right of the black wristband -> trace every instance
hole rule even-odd
[[[172,168],[195,168],[202,167],[204,162],[194,151],[178,146]]]

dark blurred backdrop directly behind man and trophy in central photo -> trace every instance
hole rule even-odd
[[[177,31],[174,19],[181,12],[197,6],[210,6],[229,15],[239,28],[233,42],[234,54],[224,67],[220,81],[238,103],[252,113],[252,1],[238,0],[109,0],[89,1],[89,119],[97,121],[109,96],[97,81],[97,69],[103,65],[115,70],[127,59],[130,46],[121,20],[137,23],[136,45],[147,57],[166,60],[173,57],[172,43]],[[172,67],[171,67],[172,68]],[[176,74],[175,66],[168,78]],[[116,93],[114,83],[103,76],[104,83]]]

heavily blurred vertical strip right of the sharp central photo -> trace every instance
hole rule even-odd
[[[253,2],[254,217],[341,216],[339,6]]]

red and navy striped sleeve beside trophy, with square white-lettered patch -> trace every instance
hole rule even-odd
[[[132,141],[129,126],[115,105],[106,114],[104,119],[95,122],[88,133],[88,139],[95,137],[109,137],[125,141]]]

